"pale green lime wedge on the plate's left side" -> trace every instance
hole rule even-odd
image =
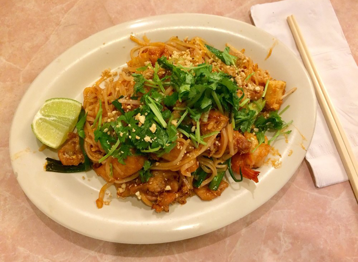
[[[43,144],[58,148],[73,131],[82,104],[69,98],[51,98],[36,113],[31,127]]]

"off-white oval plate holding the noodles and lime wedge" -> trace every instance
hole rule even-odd
[[[136,198],[117,199],[115,188],[109,206],[97,209],[95,200],[104,184],[94,171],[76,174],[44,171],[45,157],[55,157],[55,151],[39,152],[39,141],[32,134],[30,124],[46,99],[68,97],[83,101],[82,92],[91,86],[103,69],[118,68],[130,59],[135,46],[131,33],[144,33],[155,41],[171,36],[179,38],[200,36],[219,49],[226,42],[258,65],[269,70],[271,76],[287,82],[287,89],[298,87],[282,108],[286,121],[294,120],[289,143],[282,137],[274,146],[282,154],[282,167],[260,168],[260,182],[244,179],[230,180],[221,197],[209,202],[194,196],[185,205],[170,206],[169,213],[157,214]],[[267,50],[276,39],[255,26],[203,14],[170,14],[144,18],[113,26],[84,39],[55,59],[35,79],[21,100],[10,132],[10,155],[21,188],[29,199],[48,217],[65,227],[93,238],[121,243],[161,243],[199,236],[224,227],[252,212],[269,200],[291,178],[303,160],[314,130],[316,102],[313,87],[301,62],[284,44],[279,42],[266,61]],[[103,44],[105,43],[105,44]],[[288,156],[289,150],[293,151]],[[277,156],[276,156],[277,158]],[[83,180],[82,176],[85,177]],[[90,181],[89,181],[90,180]]]

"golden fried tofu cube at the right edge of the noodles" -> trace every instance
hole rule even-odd
[[[286,82],[279,80],[271,80],[267,86],[266,91],[266,105],[267,110],[279,110],[282,104],[281,97],[285,94]]]

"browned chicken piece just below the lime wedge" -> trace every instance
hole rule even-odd
[[[79,146],[78,134],[68,133],[67,141],[58,150],[58,158],[62,165],[74,165],[84,162],[84,156],[82,154],[81,147]]]

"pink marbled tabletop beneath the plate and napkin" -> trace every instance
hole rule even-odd
[[[305,161],[250,215],[204,236],[156,245],[109,243],[62,227],[26,198],[11,169],[16,105],[67,48],[150,15],[207,13],[251,23],[250,7],[264,2],[0,0],[0,261],[358,261],[358,206],[349,183],[316,188]],[[358,1],[332,4],[357,62]]]

